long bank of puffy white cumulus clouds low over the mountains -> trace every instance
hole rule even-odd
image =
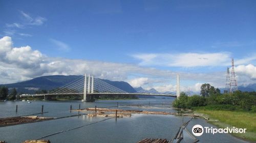
[[[154,56],[151,56],[154,57]],[[235,67],[238,84],[256,83],[255,66],[252,64]],[[84,75],[92,74],[97,78],[113,81],[127,81],[132,86],[155,88],[161,92],[176,91],[177,72],[143,67],[135,64],[89,61],[79,59],[47,57],[29,45],[14,47],[11,37],[0,38],[0,84],[29,80],[48,75]],[[128,77],[141,75],[130,79]],[[200,83],[210,83],[225,87],[226,71],[212,73],[180,72],[181,90],[200,90]],[[186,81],[195,82],[186,86]]]

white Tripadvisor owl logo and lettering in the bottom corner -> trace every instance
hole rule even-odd
[[[201,125],[195,125],[192,128],[192,133],[195,136],[201,136],[204,132],[205,133],[211,133],[211,134],[215,134],[215,133],[245,133],[246,129],[242,129],[242,128],[212,128],[212,127],[202,127]]]

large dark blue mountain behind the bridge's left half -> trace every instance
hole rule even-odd
[[[2,84],[0,86],[7,86],[8,88],[16,88],[18,92],[23,93],[34,93],[36,90],[51,90],[57,87],[61,87],[66,85],[82,76],[44,76],[34,78],[32,80],[11,83],[11,84]],[[123,81],[110,81],[110,80],[103,80],[102,81],[109,83],[121,90],[126,92],[136,92],[136,90],[127,82]]]

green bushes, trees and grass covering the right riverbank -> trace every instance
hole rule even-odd
[[[246,128],[246,133],[232,135],[247,141],[256,141],[256,92],[237,90],[220,93],[218,88],[203,84],[200,96],[187,96],[181,92],[180,97],[173,102],[173,107],[191,109],[219,128]]]

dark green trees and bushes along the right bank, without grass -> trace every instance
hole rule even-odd
[[[256,112],[256,92],[221,93],[220,89],[205,83],[201,86],[200,95],[187,96],[181,92],[173,102],[175,108],[193,109],[204,106],[214,110],[244,110]]]

